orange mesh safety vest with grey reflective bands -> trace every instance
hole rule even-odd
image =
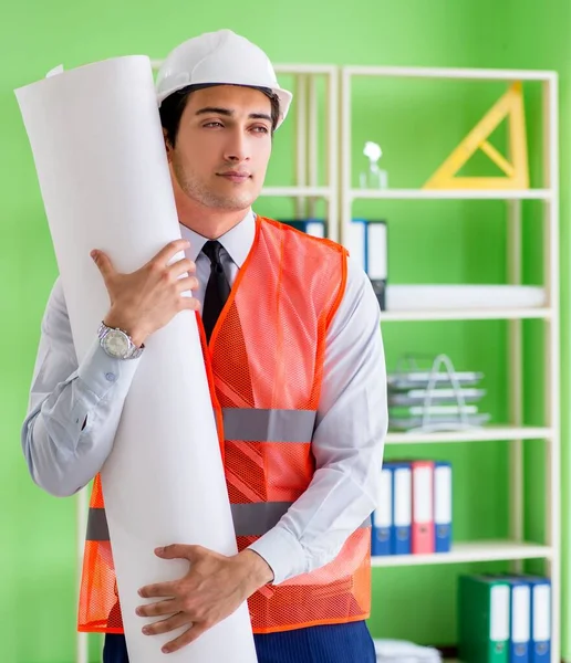
[[[346,283],[346,252],[329,240],[257,218],[252,249],[203,350],[219,422],[238,549],[271,529],[308,488],[325,337]],[[220,425],[220,422],[222,423]],[[173,541],[176,543],[176,541]],[[255,633],[366,619],[368,520],[333,561],[249,600]],[[101,480],[95,477],[79,630],[122,633]]]

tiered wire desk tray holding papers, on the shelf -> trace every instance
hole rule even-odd
[[[442,356],[442,362],[449,362]],[[438,359],[438,358],[437,358]],[[436,361],[435,364],[439,364]],[[397,371],[387,376],[388,424],[394,431],[444,431],[487,423],[489,414],[479,411],[486,391],[479,387],[482,373],[476,371]]]

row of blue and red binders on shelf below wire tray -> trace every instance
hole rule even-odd
[[[384,463],[371,554],[449,552],[451,483],[451,465],[444,461]]]

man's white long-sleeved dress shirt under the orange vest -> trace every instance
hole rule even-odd
[[[207,239],[183,225],[180,231],[190,241],[187,257],[196,262],[200,284],[193,294],[203,303],[210,274],[210,261],[201,253]],[[249,212],[218,238],[230,285],[255,233],[255,215]],[[112,450],[141,360],[112,359],[94,330],[93,346],[77,366],[63,288],[60,280],[55,282],[22,427],[23,452],[38,485],[66,496],[97,474]],[[312,439],[315,474],[280,522],[250,546],[272,568],[274,583],[331,561],[374,511],[387,420],[380,307],[366,274],[349,259],[346,290],[326,336]]]

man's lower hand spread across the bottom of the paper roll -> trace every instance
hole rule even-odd
[[[271,568],[253,550],[226,557],[201,546],[174,545],[157,548],[155,554],[163,559],[190,562],[180,580],[147,585],[138,592],[146,599],[163,599],[137,608],[138,615],[166,618],[145,627],[143,633],[156,635],[188,625],[181,635],[165,644],[165,653],[176,652],[199,638],[273,579]]]

